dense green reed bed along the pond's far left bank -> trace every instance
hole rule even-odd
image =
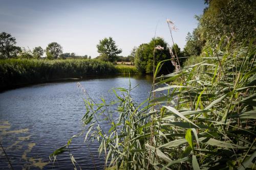
[[[44,83],[67,78],[85,78],[88,75],[136,73],[130,66],[115,66],[112,63],[89,59],[0,60],[0,88],[13,88],[24,84]]]

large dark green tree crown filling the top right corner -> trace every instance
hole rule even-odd
[[[200,25],[201,35],[209,45],[216,45],[223,36],[234,41],[255,37],[256,2],[251,0],[212,0]]]

